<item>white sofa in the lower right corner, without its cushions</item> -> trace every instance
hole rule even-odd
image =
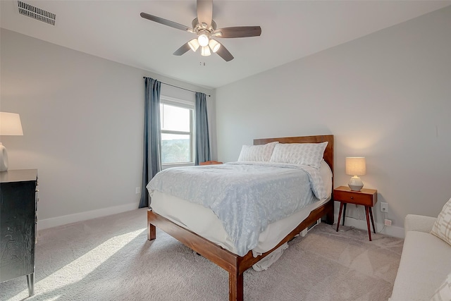
[[[451,245],[432,235],[436,218],[409,214],[404,247],[390,301],[431,300],[451,272]]]

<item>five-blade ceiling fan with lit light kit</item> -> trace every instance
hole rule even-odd
[[[190,42],[183,44],[182,47],[177,49],[173,53],[175,56],[181,56],[190,49],[197,51],[200,47],[202,56],[209,56],[211,55],[211,51],[213,51],[225,61],[231,61],[233,60],[233,55],[230,54],[223,44],[216,41],[215,38],[258,37],[261,35],[260,26],[224,27],[217,29],[216,23],[213,20],[213,0],[197,0],[197,18],[192,20],[192,28],[171,20],[149,15],[148,13],[141,13],[141,17],[197,35],[196,39],[190,40]]]

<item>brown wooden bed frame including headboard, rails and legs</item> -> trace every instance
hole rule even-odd
[[[268,142],[278,141],[280,143],[321,143],[328,142],[326,151],[324,152],[324,160],[330,166],[333,173],[333,135],[319,135],[319,136],[306,136],[306,137],[283,137],[283,138],[268,138],[268,139],[256,139],[254,145],[264,145]],[[333,180],[333,178],[332,178]],[[332,185],[333,187],[333,185]],[[326,223],[333,224],[333,197],[326,204],[311,211],[307,219],[304,219],[299,225],[291,231],[283,240],[281,240],[276,247],[272,250],[261,254],[257,257],[252,256],[252,251],[249,251],[245,256],[238,256],[226,249],[216,245],[214,242],[202,238],[202,236],[189,231],[183,227],[178,226],[172,221],[156,214],[149,209],[147,211],[147,239],[156,239],[156,227],[162,231],[173,236],[173,238],[179,240],[187,247],[190,247],[194,252],[197,252],[209,259],[214,264],[221,266],[221,268],[228,271],[229,279],[229,300],[243,300],[243,274],[253,264],[256,264],[260,259],[266,257],[268,254],[276,250],[280,245],[292,240],[295,235],[299,234],[302,230],[315,223],[318,219],[326,216]]]

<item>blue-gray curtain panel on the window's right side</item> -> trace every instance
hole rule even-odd
[[[196,92],[195,109],[195,135],[196,135],[196,154],[195,164],[199,162],[210,161],[210,138],[209,138],[209,118],[206,112],[206,94]]]

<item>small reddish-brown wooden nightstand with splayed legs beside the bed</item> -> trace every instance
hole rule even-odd
[[[333,199],[340,202],[340,213],[338,214],[337,222],[337,232],[340,226],[340,219],[342,214],[343,205],[345,205],[345,212],[343,213],[343,226],[345,225],[346,216],[346,204],[357,204],[365,207],[366,214],[366,226],[368,226],[368,236],[371,241],[371,228],[369,227],[369,218],[371,217],[371,224],[373,225],[373,231],[376,233],[376,228],[374,228],[373,210],[371,209],[376,202],[378,202],[378,191],[374,189],[362,188],[361,191],[353,191],[347,186],[340,186],[333,190]]]

